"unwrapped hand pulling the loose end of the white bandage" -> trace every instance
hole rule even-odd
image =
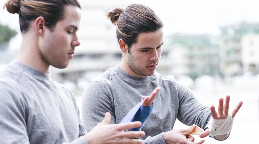
[[[163,133],[166,144],[202,144],[204,140],[194,142],[190,134],[195,131],[195,125],[188,129],[176,129]]]

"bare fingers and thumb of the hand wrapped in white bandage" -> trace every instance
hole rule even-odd
[[[212,105],[210,107],[210,111],[211,111],[211,116],[212,118],[214,118],[215,120],[223,120],[226,119],[226,117],[228,116],[228,108],[229,108],[229,101],[230,101],[230,96],[226,96],[226,101],[225,104],[223,98],[220,98],[218,100],[218,114],[215,110],[215,107]],[[235,107],[235,109],[232,111],[232,118],[235,117],[235,115],[237,114],[238,110],[240,109],[240,107],[242,106],[243,102],[240,101],[237,104],[237,107]],[[209,129],[207,128],[204,132],[202,132],[200,134],[201,138],[207,137],[210,134]],[[228,136],[228,134],[226,135],[226,137]]]

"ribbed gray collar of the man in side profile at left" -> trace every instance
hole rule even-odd
[[[32,75],[33,77],[38,77],[38,78],[41,78],[41,79],[45,79],[45,80],[51,80],[51,77],[50,77],[50,72],[48,74],[46,73],[43,73],[37,69],[34,69],[33,67],[30,67],[22,62],[19,62],[17,60],[13,60],[11,62],[11,65],[13,67],[16,67],[17,69],[20,69],[26,73],[28,73],[29,75]]]

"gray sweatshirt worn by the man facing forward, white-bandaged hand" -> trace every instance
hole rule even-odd
[[[142,130],[144,143],[164,144],[163,132],[173,129],[176,118],[182,123],[204,128],[210,120],[210,109],[201,104],[193,92],[176,82],[173,76],[163,77],[155,72],[151,76],[135,77],[125,73],[119,65],[90,80],[82,101],[83,123],[89,132],[102,121],[106,111],[111,123],[119,123],[142,96],[160,87],[155,106]]]

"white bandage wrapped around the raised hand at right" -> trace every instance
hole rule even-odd
[[[210,130],[209,136],[222,135],[231,132],[233,122],[234,118],[232,118],[231,114],[228,114],[224,120],[215,120],[212,118],[206,126],[206,128]]]

